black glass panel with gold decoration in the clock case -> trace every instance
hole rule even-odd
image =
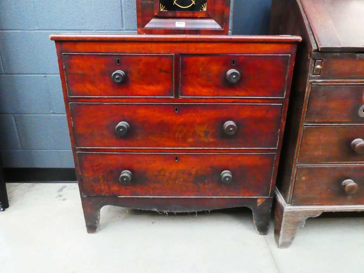
[[[207,0],[159,0],[160,11],[206,11]]]

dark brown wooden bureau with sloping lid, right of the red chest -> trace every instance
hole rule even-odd
[[[277,178],[275,237],[364,210],[364,2],[274,0],[271,32],[302,36]]]

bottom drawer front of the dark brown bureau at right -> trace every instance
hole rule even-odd
[[[342,183],[351,179],[356,185]],[[350,190],[356,189],[356,193]],[[293,205],[359,205],[364,203],[364,166],[298,167]]]

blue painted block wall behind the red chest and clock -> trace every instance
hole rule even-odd
[[[267,3],[270,0],[232,1],[230,33],[266,31],[261,24],[268,20]],[[0,1],[0,150],[4,167],[74,167],[56,51],[48,36],[136,33],[136,29],[135,0]]]

